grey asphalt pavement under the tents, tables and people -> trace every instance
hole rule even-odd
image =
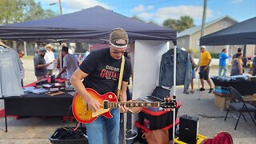
[[[25,67],[24,83],[26,85],[36,80],[33,59],[24,58],[22,61]],[[218,66],[212,66],[210,76],[217,74]],[[194,81],[194,85],[198,89],[198,79]],[[224,121],[226,111],[214,106],[214,94],[209,94],[209,86],[207,83],[205,85],[206,91],[196,91],[194,94],[183,94],[183,87],[177,86],[177,100],[182,102],[182,106],[178,109],[178,117],[183,114],[198,116],[199,134],[205,135],[208,138],[213,138],[219,132],[226,131],[232,135],[234,143],[256,143],[256,126],[251,121],[249,114],[245,114],[247,122],[241,119],[237,130],[234,130],[238,114],[231,112],[227,121]],[[0,101],[0,108],[2,109],[3,107],[3,102]],[[0,118],[0,143],[4,144],[50,143],[48,138],[58,127],[75,125],[73,122],[69,124],[63,122],[62,118],[29,117],[15,119],[9,117],[7,121],[8,132],[6,133],[5,118]]]

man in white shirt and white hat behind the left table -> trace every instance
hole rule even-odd
[[[49,66],[47,66],[47,75],[53,75],[53,70],[54,70],[54,52],[52,51],[52,46],[50,44],[46,45],[46,55],[45,55],[45,60],[46,63],[51,63]]]

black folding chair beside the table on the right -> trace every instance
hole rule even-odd
[[[248,103],[245,103],[242,99],[242,95],[238,92],[238,90],[235,90],[231,86],[229,87],[229,90],[230,90],[232,100],[230,102],[229,109],[226,112],[226,117],[227,117],[227,114],[229,114],[230,109],[240,112],[239,117],[238,117],[238,121],[237,121],[236,125],[234,126],[234,130],[236,130],[241,115],[245,119],[245,121],[247,122],[246,117],[242,113],[243,112],[248,112],[250,114],[250,112],[256,112],[256,107],[254,107],[254,106],[252,106]],[[225,121],[226,121],[226,117],[225,117]],[[251,114],[250,114],[250,118],[253,120],[254,125],[256,126],[256,122],[254,121],[254,118],[252,117]]]

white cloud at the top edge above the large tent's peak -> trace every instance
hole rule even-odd
[[[110,6],[107,6],[105,3],[98,2],[96,0],[62,0],[62,3],[65,3],[66,6],[65,13],[87,9],[93,6],[102,6],[106,9],[110,9]]]

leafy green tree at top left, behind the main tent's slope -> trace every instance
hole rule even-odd
[[[0,0],[0,24],[25,22],[57,16],[53,10],[43,10],[40,2],[34,0]]]

